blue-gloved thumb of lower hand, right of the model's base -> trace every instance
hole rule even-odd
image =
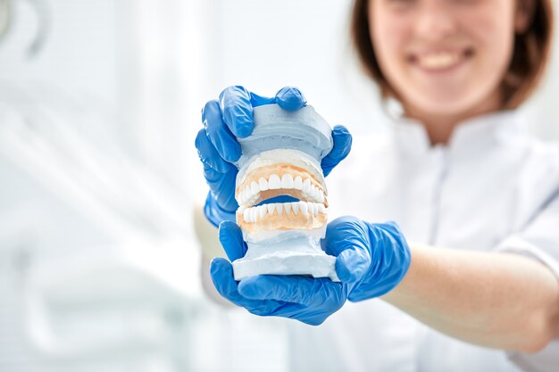
[[[345,216],[334,219],[321,241],[325,252],[336,256],[336,273],[345,283],[355,283],[371,267],[369,231],[360,219]]]

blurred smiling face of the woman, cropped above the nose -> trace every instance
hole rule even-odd
[[[375,54],[405,108],[468,112],[499,97],[516,0],[370,0]]]

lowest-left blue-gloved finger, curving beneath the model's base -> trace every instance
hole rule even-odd
[[[277,315],[283,303],[272,301],[251,300],[238,293],[238,283],[233,277],[233,267],[225,259],[216,258],[210,266],[210,276],[213,285],[222,297],[233,304],[245,308],[254,315]]]

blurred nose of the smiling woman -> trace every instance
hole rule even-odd
[[[457,29],[455,12],[439,1],[421,2],[415,17],[415,34],[428,40],[453,35]]]

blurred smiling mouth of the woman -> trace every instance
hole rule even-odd
[[[408,61],[426,72],[446,72],[454,70],[473,55],[471,48],[462,51],[434,51],[411,54]]]

